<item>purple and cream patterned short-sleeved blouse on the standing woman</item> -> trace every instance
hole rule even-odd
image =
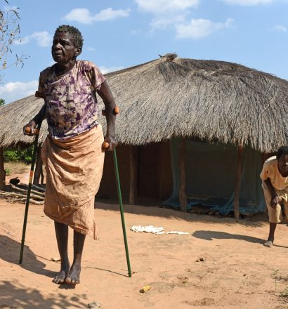
[[[54,66],[40,73],[38,91],[46,101],[46,119],[52,138],[63,140],[97,126],[96,90],[105,77],[98,67],[77,60],[70,72],[58,76]]]

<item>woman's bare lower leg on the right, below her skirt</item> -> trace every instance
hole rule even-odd
[[[69,275],[67,275],[65,282],[71,284],[80,283],[81,272],[81,258],[84,247],[86,235],[74,231],[74,260]]]

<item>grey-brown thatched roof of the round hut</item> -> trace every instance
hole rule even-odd
[[[197,137],[250,145],[261,152],[288,144],[288,81],[271,74],[169,54],[106,77],[121,110],[121,143]],[[0,145],[29,143],[22,126],[42,104],[42,99],[30,96],[1,107]],[[104,117],[100,122],[104,125]],[[45,134],[46,124],[41,140]]]

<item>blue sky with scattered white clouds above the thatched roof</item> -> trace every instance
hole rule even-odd
[[[239,63],[288,80],[288,0],[8,0],[20,13],[20,39],[2,70],[0,98],[11,103],[37,90],[39,73],[53,65],[59,25],[84,37],[78,59],[103,73],[176,53],[181,58]],[[0,0],[1,10],[7,6]],[[1,63],[1,60],[0,60]]]

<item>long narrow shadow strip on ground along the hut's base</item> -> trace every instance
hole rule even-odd
[[[109,201],[111,202],[111,201]],[[107,211],[119,211],[119,204],[106,204],[103,200],[96,199],[95,209],[103,209]],[[176,218],[188,222],[201,223],[227,223],[229,225],[240,224],[245,226],[260,227],[266,224],[266,216],[258,214],[249,220],[235,220],[224,216],[198,215],[195,213],[181,212],[176,209],[166,209],[159,206],[139,206],[139,205],[124,205],[124,213],[139,214],[145,216],[158,216],[163,218]]]

